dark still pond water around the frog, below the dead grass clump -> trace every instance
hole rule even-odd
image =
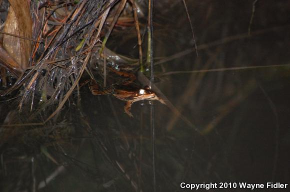
[[[240,35],[238,40],[209,46],[248,29],[252,1],[222,2],[188,2],[201,47],[199,56],[192,52],[156,65],[156,85],[183,117],[153,102],[158,192],[183,191],[181,182],[289,183],[289,67],[204,72],[287,64],[290,39],[288,28],[283,27],[287,3],[266,0],[257,4],[251,37]],[[191,47],[181,5],[156,15],[156,58]],[[272,29],[276,26],[280,28]],[[203,72],[163,75],[190,70]],[[50,131],[37,127],[1,151],[1,189],[152,192],[148,101],[134,103],[130,118],[123,101],[112,95],[93,96],[86,87],[81,91],[82,109],[64,115],[72,122],[50,125],[54,126]],[[21,142],[24,145],[19,148]]]

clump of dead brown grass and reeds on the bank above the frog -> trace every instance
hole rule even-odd
[[[121,17],[120,13],[126,0],[117,5],[115,5],[117,0],[31,1],[31,9],[25,5],[21,10],[16,10],[21,16],[16,14],[15,18],[10,18],[13,7],[20,7],[13,2],[13,0],[10,2],[3,36],[20,42],[14,43],[12,40],[3,39],[3,55],[0,59],[3,62],[2,67],[7,68],[9,75],[17,81],[9,89],[2,91],[1,96],[8,96],[13,91],[21,89],[18,95],[20,100],[17,101],[18,110],[30,111],[30,120],[48,106],[57,105],[57,108],[50,116],[42,117],[44,122],[57,114],[72,92],[79,90],[79,80],[84,71],[90,78],[95,77],[96,74],[92,74],[92,71],[95,71],[95,66],[103,67],[103,49],[116,24],[126,26],[124,22],[129,22],[132,25],[135,19],[139,34],[134,1],[127,4],[128,10],[124,12],[129,12],[128,15],[123,14]],[[131,13],[132,8],[134,16]],[[33,22],[29,21],[29,18],[32,18]],[[6,29],[12,28],[8,27],[10,20],[17,21],[14,24],[16,31]],[[9,36],[7,33],[16,36]],[[31,37],[33,41],[30,40]],[[6,41],[8,43],[5,43]],[[138,42],[140,45],[140,38]],[[31,43],[30,51],[28,45]],[[7,44],[20,46],[7,47]],[[16,56],[11,52],[21,53],[23,56]],[[110,54],[107,56],[108,62],[110,58],[117,56],[113,52],[107,52]],[[125,62],[121,64],[128,64],[128,61]]]

